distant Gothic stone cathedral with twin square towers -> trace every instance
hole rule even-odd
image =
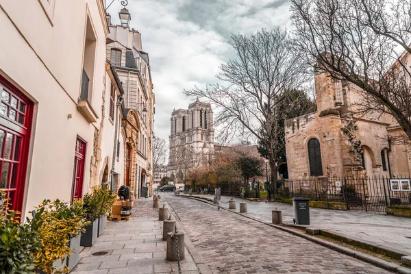
[[[214,153],[214,127],[210,103],[197,99],[187,110],[173,110],[170,119],[168,174],[182,182],[190,169],[208,164]],[[174,178],[173,178],[174,177]]]

